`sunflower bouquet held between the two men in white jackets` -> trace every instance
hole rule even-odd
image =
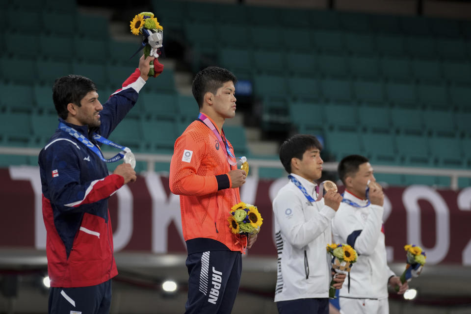
[[[353,247],[348,244],[328,244],[327,252],[332,255],[332,268],[336,273],[349,273],[353,263],[357,261],[358,254]],[[335,275],[334,275],[335,276]],[[329,298],[335,299],[334,278],[330,282]]]

